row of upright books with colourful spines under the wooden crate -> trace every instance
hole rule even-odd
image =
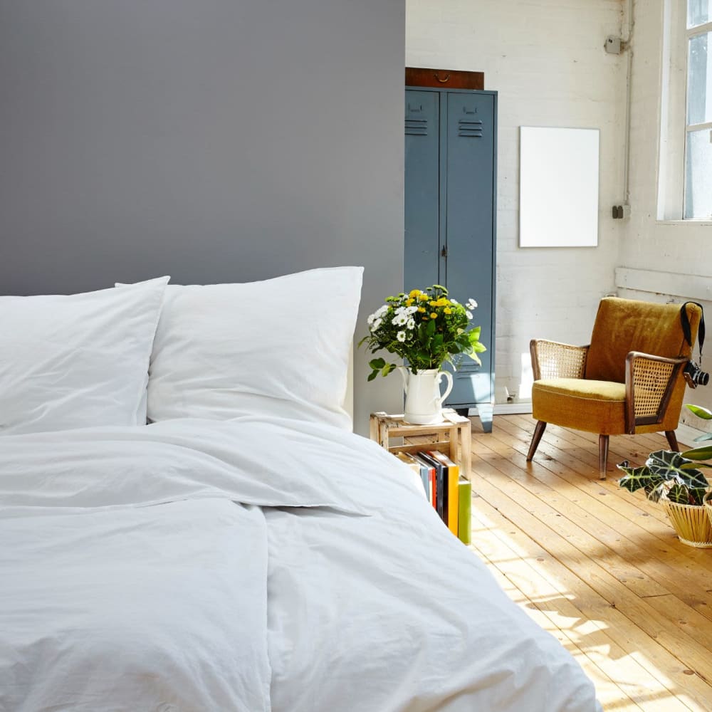
[[[460,468],[438,450],[399,452],[397,457],[419,474],[425,496],[447,528],[465,544],[470,543],[472,487]]]

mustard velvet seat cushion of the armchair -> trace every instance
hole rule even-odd
[[[603,435],[625,432],[625,384],[547,378],[532,387],[532,415],[545,423]]]

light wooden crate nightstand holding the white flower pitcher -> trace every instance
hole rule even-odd
[[[443,409],[444,421],[436,425],[412,425],[404,422],[402,415],[387,413],[371,414],[371,439],[390,452],[418,452],[424,444],[392,445],[391,439],[414,436],[434,436],[435,441],[428,445],[431,450],[447,454],[459,464],[460,472],[470,478],[470,438],[471,423],[464,416],[450,408]]]

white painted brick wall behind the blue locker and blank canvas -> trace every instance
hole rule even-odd
[[[498,393],[519,392],[531,338],[587,343],[598,301],[614,289],[625,58],[603,44],[622,18],[618,0],[407,0],[407,66],[483,71],[499,93]],[[518,247],[522,125],[600,129],[597,248]]]

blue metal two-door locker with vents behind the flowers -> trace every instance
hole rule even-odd
[[[454,372],[447,405],[494,406],[497,93],[408,88],[405,114],[405,288],[444,285],[478,303],[482,365]]]

